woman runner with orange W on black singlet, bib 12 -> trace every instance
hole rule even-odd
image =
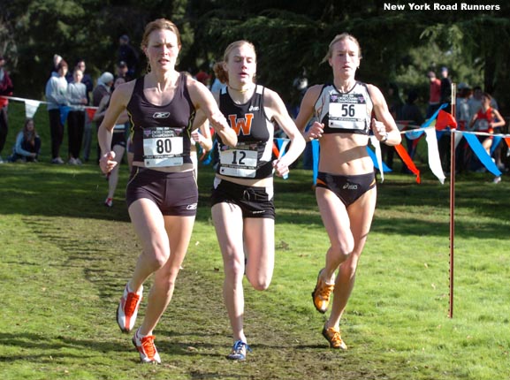
[[[238,135],[235,148],[229,148],[221,136],[217,139],[219,162],[211,199],[224,260],[225,306],[234,340],[227,358],[242,361],[249,349],[243,329],[242,280],[246,272],[256,290],[270,285],[275,250],[273,172],[285,176],[289,165],[301,155],[305,141],[280,96],[254,83],[256,55],[250,42],[232,42],[215,72],[227,83],[215,94],[219,108]],[[273,121],[291,141],[285,156],[274,161]]]

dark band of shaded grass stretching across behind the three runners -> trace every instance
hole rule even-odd
[[[126,167],[111,209],[103,206],[107,183],[95,164],[80,167],[48,163],[4,164],[1,169],[0,198],[7,201],[0,202],[0,214],[130,221],[124,201]],[[209,196],[214,175],[210,166],[200,166],[196,217],[199,222],[210,220]],[[498,238],[506,232],[506,224],[501,223],[510,213],[510,204],[502,196],[509,190],[506,182],[495,186],[484,173],[459,176],[455,190],[456,220],[462,216],[467,218],[458,224],[457,234],[468,237],[476,231],[487,238]],[[289,179],[275,179],[277,223],[322,225],[312,185],[311,171],[293,170]],[[408,235],[448,234],[450,188],[447,182],[440,185],[437,179],[424,175],[422,183],[416,184],[412,176],[393,174],[387,176],[384,183],[378,182],[377,197],[373,231]],[[421,215],[423,207],[437,209],[438,217],[424,218]],[[407,210],[407,215],[393,212],[401,208]],[[481,222],[481,218],[494,221]],[[34,231],[45,233],[35,224]],[[60,232],[55,233],[58,235]],[[57,236],[47,237],[53,239]]]

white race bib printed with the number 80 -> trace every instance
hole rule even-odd
[[[148,127],[143,130],[143,162],[148,168],[179,166],[183,160],[182,128]]]

